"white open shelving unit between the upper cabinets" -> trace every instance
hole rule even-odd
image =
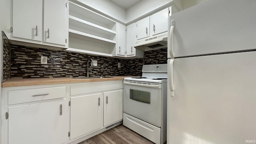
[[[69,2],[67,51],[112,56],[117,23],[74,2]]]

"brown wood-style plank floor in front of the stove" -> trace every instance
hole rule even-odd
[[[154,144],[123,125],[116,126],[79,144]]]

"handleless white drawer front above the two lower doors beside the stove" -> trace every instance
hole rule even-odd
[[[102,92],[116,89],[123,89],[123,81],[70,86],[70,95],[74,96],[78,94],[88,94],[92,92]]]

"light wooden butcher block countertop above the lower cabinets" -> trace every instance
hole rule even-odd
[[[112,78],[88,78],[88,79],[65,78],[65,77],[64,78],[13,78],[3,82],[2,87],[124,80],[125,77],[131,77],[131,76],[111,76],[111,77]]]

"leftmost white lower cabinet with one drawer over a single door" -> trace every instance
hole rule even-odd
[[[2,88],[2,144],[67,142],[66,96],[61,85]]]

